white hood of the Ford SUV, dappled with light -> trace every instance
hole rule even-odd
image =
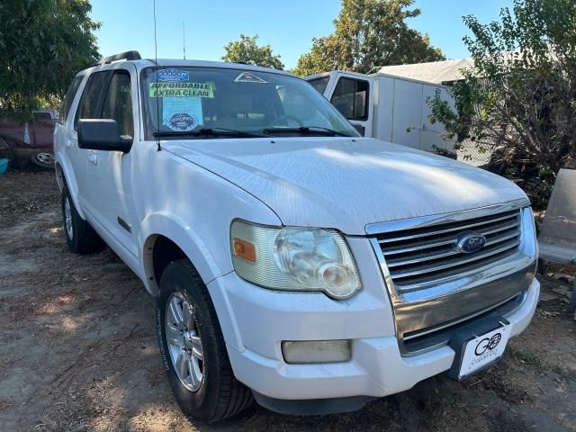
[[[166,150],[256,196],[285,225],[365,225],[526,198],[499,175],[378,139],[169,140]],[[223,203],[225,205],[225,203]]]

